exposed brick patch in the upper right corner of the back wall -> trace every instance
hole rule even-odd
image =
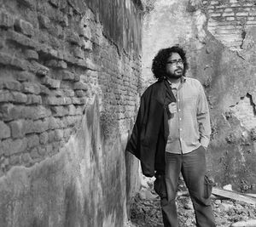
[[[256,26],[255,0],[211,0],[203,4],[212,35],[231,49],[241,49],[247,28]]]

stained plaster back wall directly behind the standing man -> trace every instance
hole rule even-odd
[[[253,14],[253,1],[237,4],[248,4],[248,15]],[[150,71],[154,55],[160,48],[179,43],[189,60],[187,77],[201,81],[210,106],[209,174],[219,186],[232,184],[236,190],[255,190],[256,27],[250,23],[244,26],[241,48],[235,51],[231,43],[226,45],[211,33],[214,15],[207,7],[218,9],[217,6],[223,5],[231,7],[232,4],[231,1],[207,1],[206,4],[201,0],[155,2],[154,10],[144,18],[143,88],[155,81]],[[236,9],[238,16],[241,8]],[[225,20],[222,14],[218,16],[217,22]],[[238,17],[236,19],[239,23]],[[224,26],[217,22],[215,31],[223,30]],[[232,34],[230,37],[236,38]]]

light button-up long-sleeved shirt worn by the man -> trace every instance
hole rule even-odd
[[[210,141],[211,125],[207,97],[201,82],[181,77],[175,88],[170,82],[177,100],[177,113],[172,114],[168,124],[170,134],[166,151],[175,154],[189,153]]]

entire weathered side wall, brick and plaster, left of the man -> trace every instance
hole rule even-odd
[[[0,3],[1,226],[123,226],[140,1]]]

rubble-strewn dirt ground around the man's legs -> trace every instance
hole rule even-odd
[[[164,226],[160,210],[160,198],[153,190],[153,182],[147,182],[147,184],[148,186],[144,185],[134,199],[131,207],[131,221],[128,226]],[[212,198],[212,208],[218,227],[229,227],[238,221],[256,219],[256,206],[241,201]],[[189,196],[177,197],[177,213],[179,227],[195,226],[195,215]]]

